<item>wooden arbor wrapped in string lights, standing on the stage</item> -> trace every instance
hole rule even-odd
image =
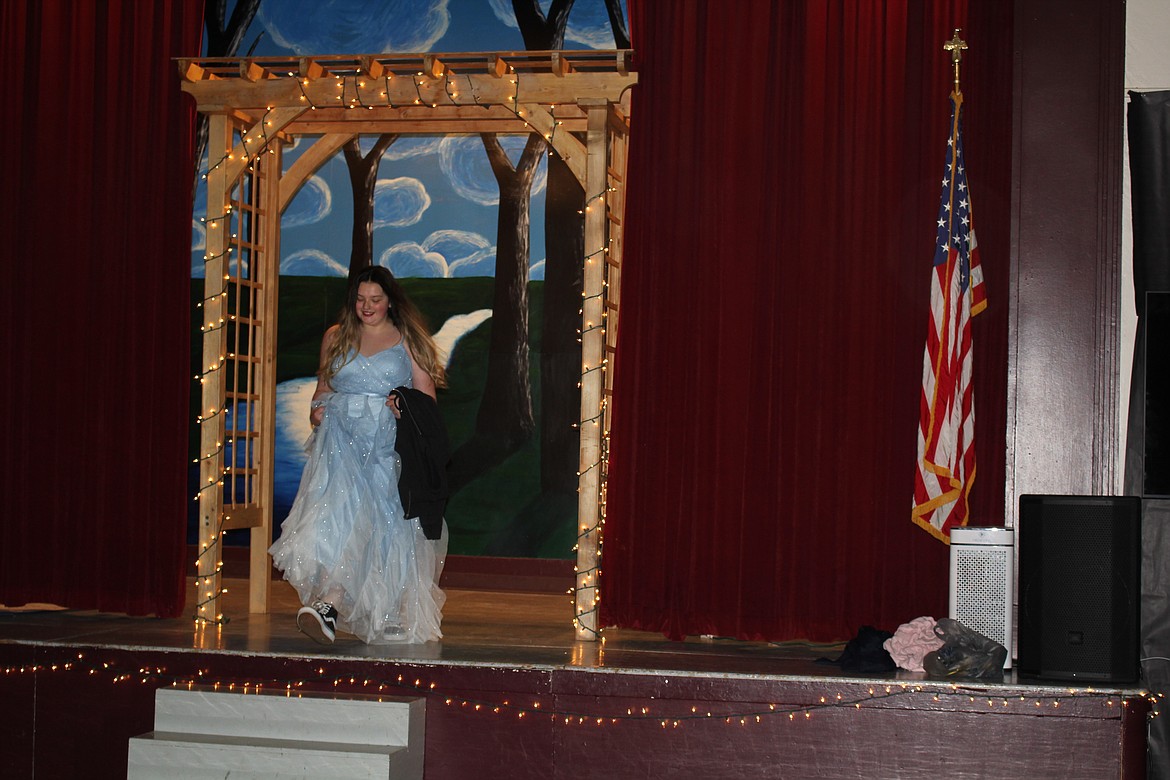
[[[250,610],[268,610],[280,215],[366,133],[539,133],[585,192],[576,619],[597,627],[608,356],[617,336],[629,53],[184,58],[208,116],[198,622],[219,622],[222,533],[250,529]],[[283,145],[318,137],[282,172]]]

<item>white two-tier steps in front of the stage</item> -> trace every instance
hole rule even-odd
[[[426,700],[163,688],[128,778],[422,778]]]

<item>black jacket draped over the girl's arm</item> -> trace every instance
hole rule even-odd
[[[442,513],[449,495],[447,463],[450,443],[435,400],[411,387],[395,387],[401,417],[394,449],[402,461],[398,492],[406,517],[419,518],[427,539],[442,536]]]

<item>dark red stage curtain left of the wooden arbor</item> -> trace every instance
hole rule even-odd
[[[0,4],[0,603],[183,612],[201,0]]]

